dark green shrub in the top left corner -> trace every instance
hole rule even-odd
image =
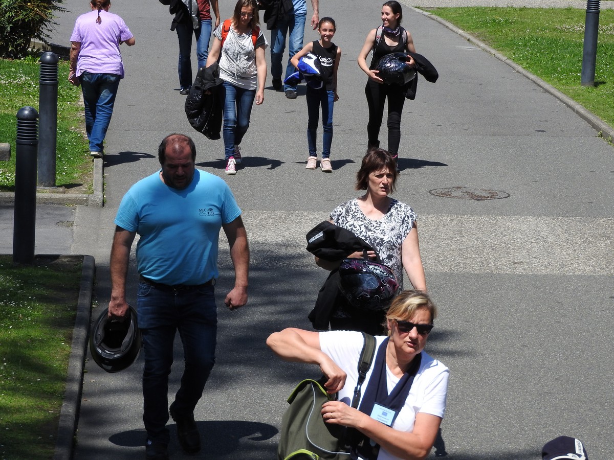
[[[53,13],[64,0],[0,0],[0,57],[21,58],[31,39],[47,43]]]

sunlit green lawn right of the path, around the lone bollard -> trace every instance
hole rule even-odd
[[[475,36],[614,126],[614,10],[599,14],[596,86],[581,86],[586,10],[425,9]]]

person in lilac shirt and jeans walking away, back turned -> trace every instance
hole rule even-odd
[[[91,12],[80,15],[72,31],[68,81],[81,85],[90,156],[102,158],[119,80],[123,79],[119,45],[134,45],[134,36],[122,18],[109,13],[110,0],[91,0],[90,5]]]

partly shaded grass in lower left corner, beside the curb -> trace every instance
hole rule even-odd
[[[53,457],[82,259],[0,256],[0,458]]]

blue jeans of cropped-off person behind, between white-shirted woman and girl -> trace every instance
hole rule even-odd
[[[271,30],[271,75],[274,79],[281,79],[282,59],[286,49],[286,35],[289,34],[288,63],[286,64],[287,79],[296,69],[290,64],[290,59],[303,49],[303,36],[305,35],[305,20],[307,13],[295,14],[293,20],[278,21],[277,28]],[[296,91],[296,86],[284,84],[284,91]]]

